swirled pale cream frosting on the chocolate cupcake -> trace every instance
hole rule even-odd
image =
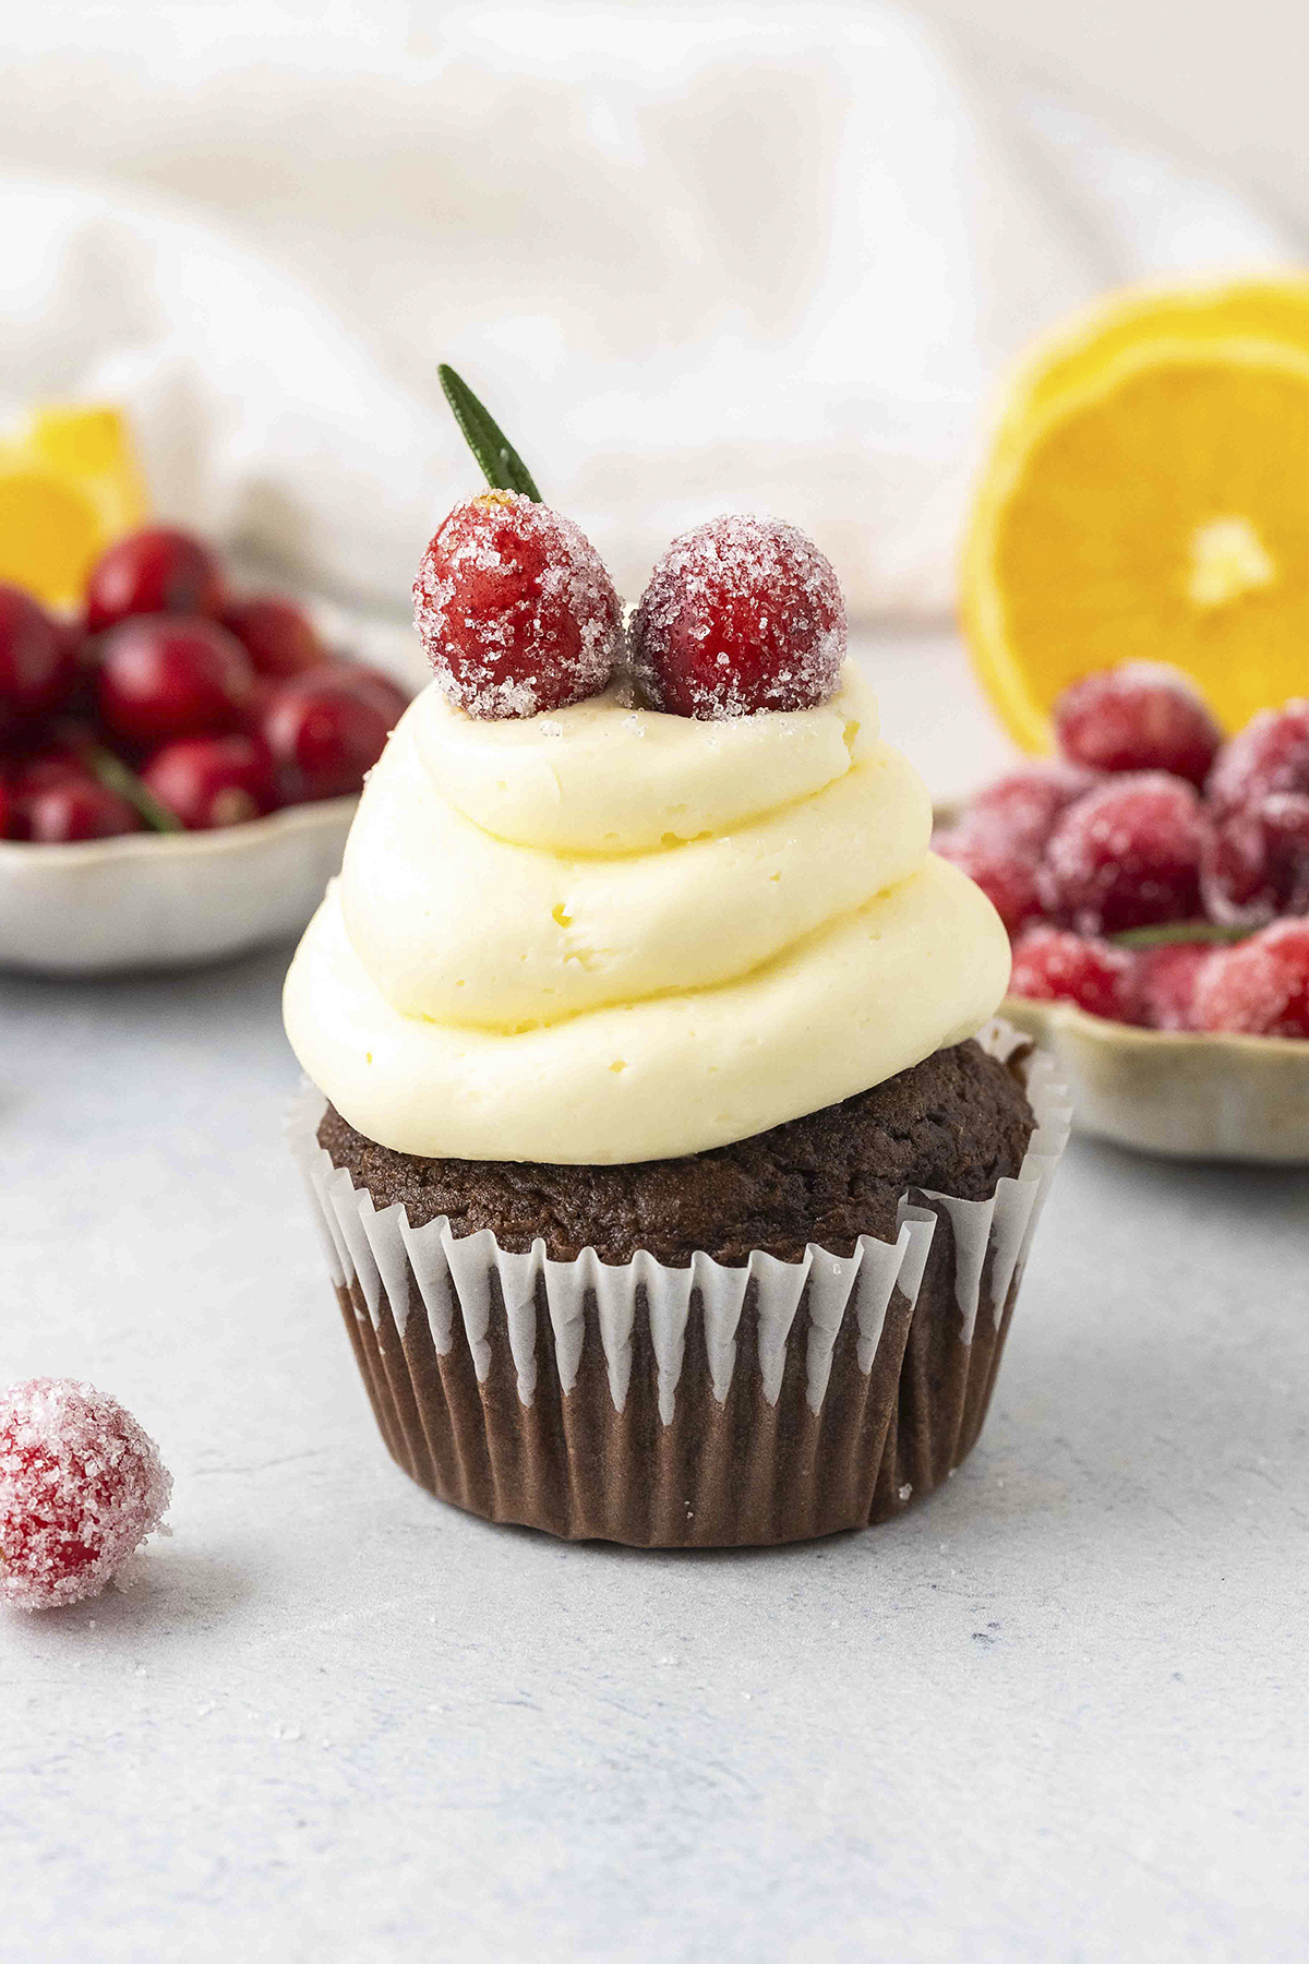
[[[854,664],[816,709],[697,723],[618,691],[473,721],[426,689],[287,976],[306,1072],[404,1153],[699,1153],[971,1035],[991,903]]]

